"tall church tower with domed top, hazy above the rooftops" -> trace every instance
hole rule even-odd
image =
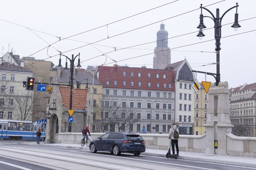
[[[171,50],[168,47],[168,32],[165,30],[163,23],[156,33],[156,40],[153,69],[165,69],[168,64],[171,64]]]

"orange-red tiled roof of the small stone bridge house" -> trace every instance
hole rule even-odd
[[[73,88],[72,91],[72,109],[84,110],[87,97],[87,89]],[[62,97],[62,102],[65,104],[65,109],[69,109],[70,87],[59,86],[59,92]]]

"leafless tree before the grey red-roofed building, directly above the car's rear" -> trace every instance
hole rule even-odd
[[[134,123],[138,122],[137,116],[134,115],[134,109],[129,107],[117,107],[116,112],[112,116],[112,122],[117,125],[118,131],[126,131],[133,126]]]

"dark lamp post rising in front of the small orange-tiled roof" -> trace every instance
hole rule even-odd
[[[61,65],[61,56],[65,56],[63,54],[59,54],[59,65],[58,67],[62,67]],[[81,65],[80,65],[80,53],[78,55],[76,55],[74,57],[74,54],[72,54],[72,58],[70,59],[69,57],[65,56],[66,57],[66,66],[65,66],[65,69],[68,68],[68,63],[67,63],[67,59],[70,61],[70,101],[69,101],[69,110],[72,110],[72,93],[73,93],[73,74],[74,74],[74,61],[76,59],[76,57],[78,57],[78,64],[77,64],[77,67],[80,68]],[[69,127],[68,127],[68,132],[71,132],[71,126],[72,126],[72,123],[69,122]]]

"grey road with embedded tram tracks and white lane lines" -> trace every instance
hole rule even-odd
[[[255,168],[221,165],[155,156],[114,156],[108,152],[91,153],[87,149],[29,145],[31,141],[0,140],[1,170],[252,170]]]

